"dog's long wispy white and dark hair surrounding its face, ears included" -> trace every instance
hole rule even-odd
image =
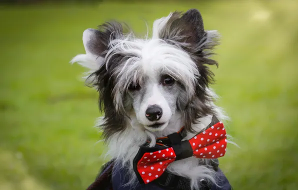
[[[221,109],[213,103],[217,96],[209,88],[214,81],[209,65],[218,65],[210,56],[218,39],[216,31],[204,30],[201,14],[196,9],[185,13],[175,11],[155,20],[150,38],[135,37],[126,24],[117,21],[84,31],[86,54],[77,55],[71,61],[89,68],[86,81],[99,92],[99,109],[104,112],[98,127],[102,129],[105,141],[109,142],[108,151],[113,157],[121,160],[123,165],[128,162],[131,166],[139,145],[148,138],[151,145],[155,143],[152,133],[131,129],[135,114],[128,95],[131,86],[137,87],[146,81],[145,76],[149,73],[145,72],[149,69],[141,60],[154,57],[154,53],[158,54],[154,58],[161,72],[180,84],[181,95],[175,106],[181,113],[177,118],[188,133],[200,130],[203,127],[199,125],[200,118],[206,115],[225,118]],[[189,159],[190,162],[192,160]],[[214,181],[210,169],[200,166],[200,170],[202,172],[196,173],[196,176],[191,172],[188,176],[193,179],[193,187],[200,177]],[[135,177],[132,170],[130,173],[132,183]]]

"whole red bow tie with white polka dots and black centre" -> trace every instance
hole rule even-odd
[[[223,156],[226,141],[223,123],[217,122],[189,140],[179,140],[170,146],[141,146],[134,157],[133,169],[140,183],[146,184],[158,178],[167,165],[175,160],[191,156],[197,158]]]

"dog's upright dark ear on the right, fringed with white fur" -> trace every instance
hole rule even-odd
[[[203,19],[197,9],[189,9],[185,13],[173,12],[167,17],[155,20],[153,23],[153,37],[164,39],[168,42],[178,43],[192,54],[208,55],[209,51],[217,45],[217,32],[205,31]],[[188,48],[191,47],[191,48]]]

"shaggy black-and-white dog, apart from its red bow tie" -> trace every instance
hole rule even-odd
[[[171,176],[170,184],[165,184],[164,178],[159,183],[142,181],[135,164],[140,147],[171,147],[159,141],[181,130],[182,140],[188,140],[206,129],[213,118],[227,118],[214,104],[217,95],[209,87],[214,82],[209,66],[218,65],[211,55],[219,44],[219,34],[204,29],[200,12],[174,11],[156,19],[151,37],[147,33],[138,38],[126,24],[110,21],[97,29],[86,29],[82,40],[86,53],[76,55],[71,62],[88,68],[86,82],[99,92],[99,109],[104,116],[98,126],[107,155],[112,157],[112,164],[106,164],[96,180],[106,170],[110,178],[104,183],[114,190],[231,189],[217,159],[175,157],[165,169],[166,177]],[[181,139],[177,143],[181,144]],[[206,181],[206,188],[202,181]],[[97,188],[90,186],[104,189],[103,183]]]

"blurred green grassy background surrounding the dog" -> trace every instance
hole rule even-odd
[[[68,63],[83,30],[118,19],[144,34],[144,20],[188,8],[222,35],[212,87],[240,146],[222,170],[234,189],[298,188],[298,1],[35,1],[0,5],[0,189],[85,189],[108,158],[97,93]]]

